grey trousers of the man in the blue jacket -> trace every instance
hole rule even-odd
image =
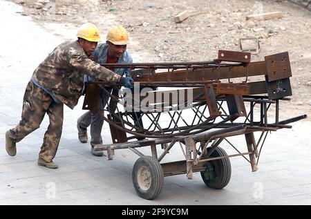
[[[106,88],[106,91],[117,97],[118,90],[113,88]],[[100,99],[97,103],[97,113],[94,114],[91,111],[87,111],[77,120],[77,124],[81,128],[87,128],[91,125],[91,145],[93,144],[102,144],[102,126],[104,124],[104,107],[109,101],[109,95],[100,91]],[[114,101],[109,103],[109,111],[115,111],[117,104]]]

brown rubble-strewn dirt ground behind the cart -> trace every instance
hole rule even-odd
[[[136,61],[206,61],[219,49],[240,50],[238,39],[259,37],[265,55],[288,51],[292,66],[292,102],[281,104],[281,116],[311,116],[311,12],[288,1],[241,0],[12,0],[40,25],[62,23],[75,29],[86,21],[100,27],[102,36],[122,24],[131,37]],[[173,17],[189,10],[191,17],[175,23]],[[246,21],[261,12],[283,12],[283,18]],[[252,81],[252,78],[249,78]]]

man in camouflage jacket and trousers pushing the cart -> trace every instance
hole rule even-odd
[[[84,23],[77,37],[77,41],[66,41],[57,46],[34,71],[23,96],[21,121],[6,132],[6,151],[9,155],[16,155],[16,142],[39,128],[47,113],[50,124],[44,134],[38,164],[57,168],[53,158],[62,135],[64,104],[71,109],[77,105],[82,95],[84,75],[110,84],[132,86],[131,77],[121,77],[88,58],[97,42],[101,41],[100,31],[94,24]]]

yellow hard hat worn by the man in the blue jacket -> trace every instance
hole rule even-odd
[[[111,28],[107,34],[107,41],[115,45],[129,44],[129,35],[127,35],[124,27],[118,25]]]

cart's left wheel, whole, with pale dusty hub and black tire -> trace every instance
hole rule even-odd
[[[138,196],[145,199],[158,197],[164,182],[160,162],[150,156],[139,158],[133,166],[132,180]]]

